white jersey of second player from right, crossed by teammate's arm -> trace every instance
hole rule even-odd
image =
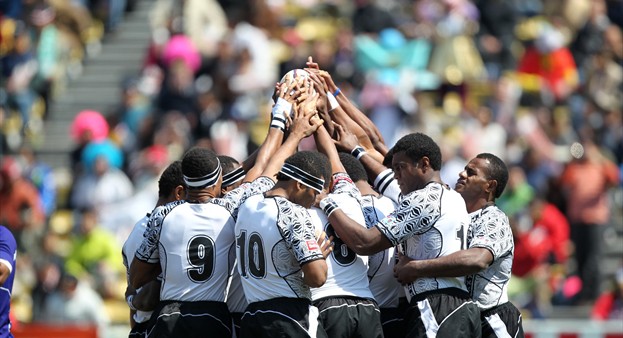
[[[469,215],[463,197],[448,186],[430,182],[402,196],[396,211],[376,224],[412,259],[432,259],[465,249]],[[464,277],[418,278],[405,286],[408,300],[426,291],[466,290]]]

